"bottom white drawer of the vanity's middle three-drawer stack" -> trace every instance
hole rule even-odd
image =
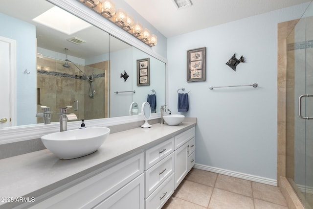
[[[174,174],[161,184],[147,199],[146,209],[160,209],[174,193]]]

